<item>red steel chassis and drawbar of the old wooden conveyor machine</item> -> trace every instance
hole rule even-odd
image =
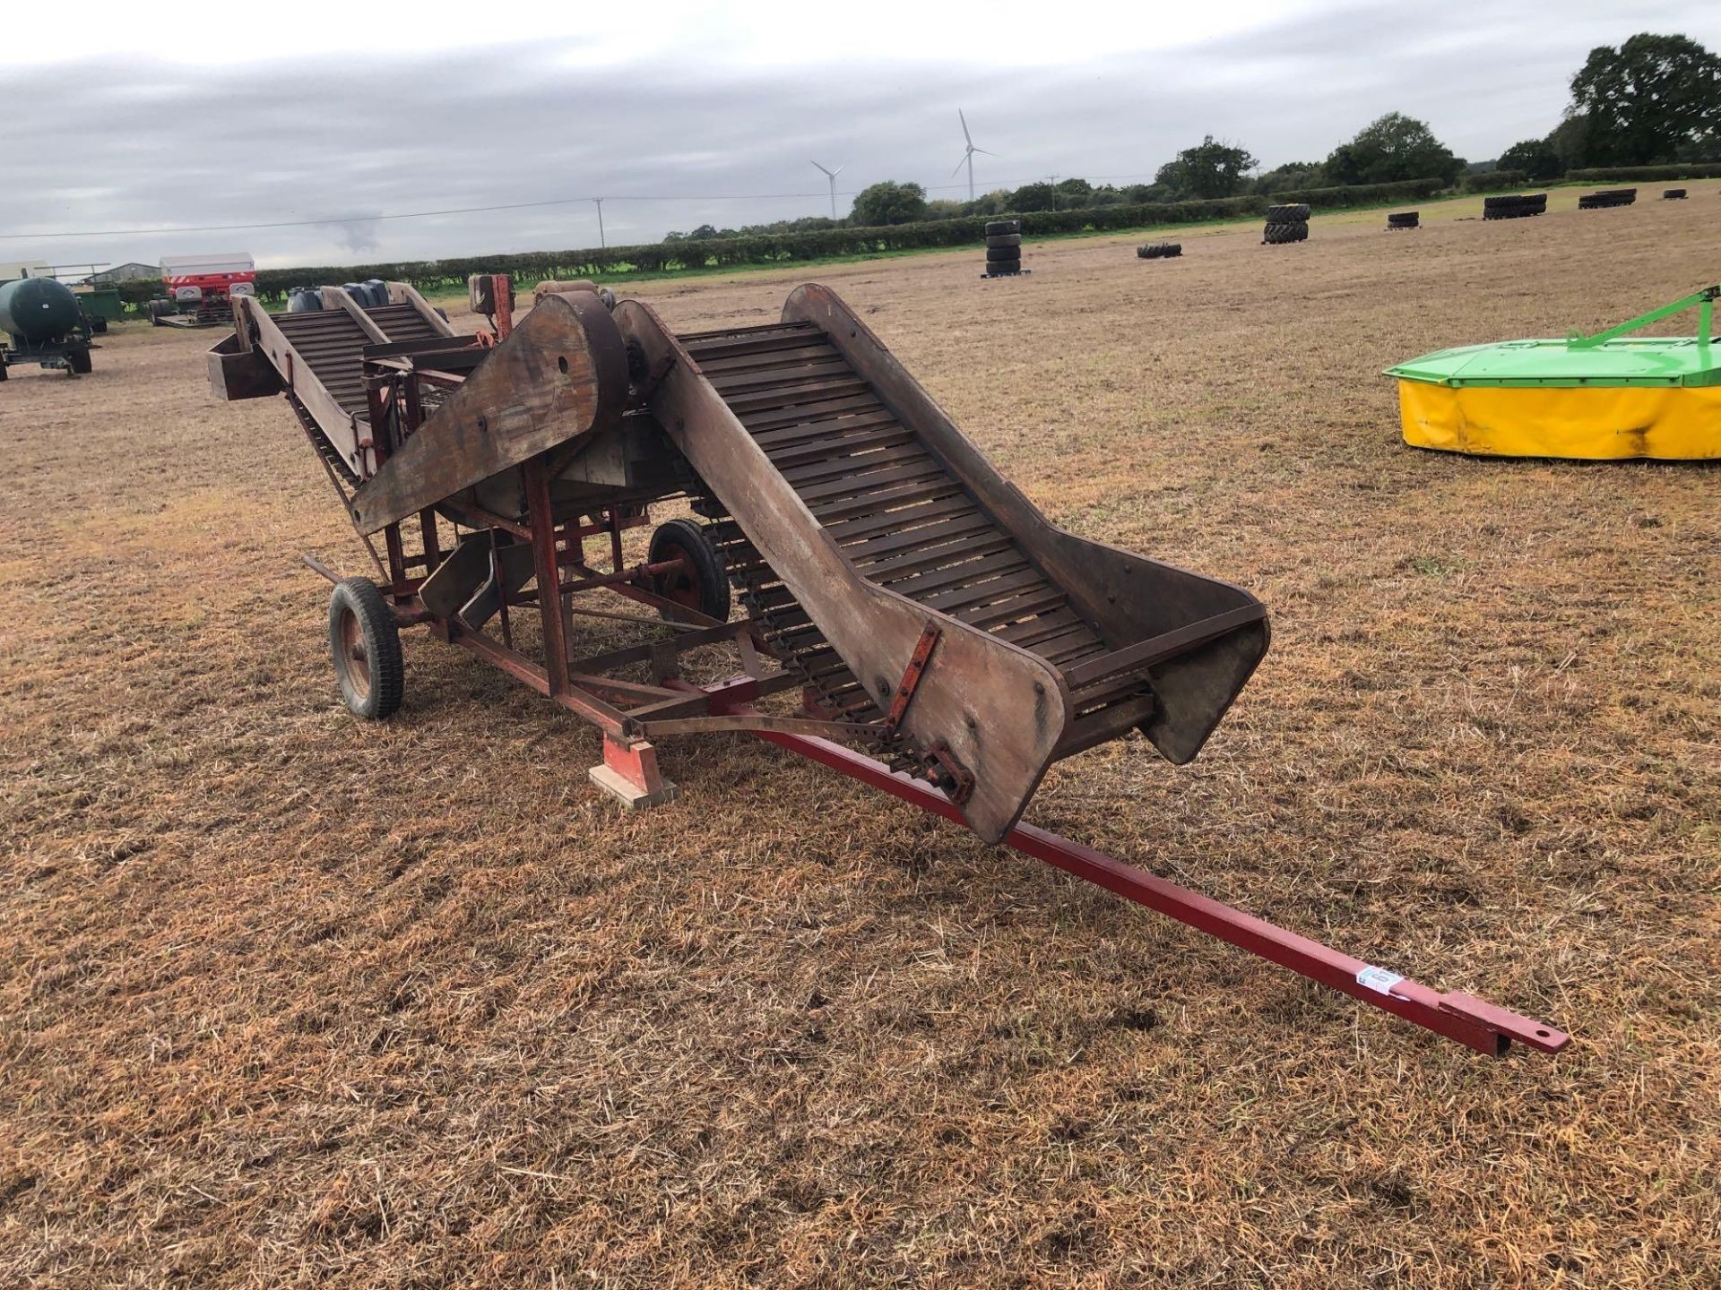
[[[509,322],[506,304],[503,304],[497,330],[506,334]],[[386,423],[386,401],[392,394],[386,380],[372,380],[368,385],[370,425],[380,427]],[[411,382],[404,387],[404,402],[410,428],[416,428],[418,408]],[[387,449],[382,444],[370,447],[375,451],[380,464]],[[336,482],[337,490],[346,499],[346,492],[341,490],[332,471],[330,482]],[[470,514],[472,528],[489,528],[492,531],[492,544],[496,530],[532,544],[532,581],[535,587],[532,590],[508,592],[506,585],[503,585],[497,614],[501,640],[466,628],[454,619],[437,617],[418,599],[418,587],[423,583],[423,578],[442,559],[435,511],[423,511],[418,516],[422,528],[422,554],[418,556],[406,554],[399,525],[389,525],[384,530],[387,564],[384,564],[384,559],[370,545],[368,538],[365,544],[370,547],[372,559],[384,574],[384,587],[401,624],[429,624],[432,633],[441,640],[463,645],[602,731],[604,764],[602,767],[594,767],[594,777],[599,771],[608,769],[613,779],[621,781],[621,788],[637,791],[640,803],[663,802],[673,796],[675,786],[657,772],[656,753],[647,741],[651,736],[702,729],[745,729],[761,740],[809,757],[821,765],[883,789],[933,815],[941,815],[957,824],[964,822],[960,805],[940,789],[921,779],[898,774],[883,762],[833,743],[816,733],[821,729],[826,733],[842,731],[840,724],[774,717],[759,712],[754,707],[757,698],[793,688],[799,685],[799,678],[786,671],[768,674],[759,667],[757,654],[747,636],[747,623],[719,624],[700,614],[688,614],[685,607],[651,592],[647,587],[651,576],[675,568],[676,562],[625,566],[621,533],[649,523],[644,502],[611,506],[590,516],[590,523],[564,521],[558,525],[551,511],[547,456],[527,463],[525,492],[527,523],[490,514],[470,502],[454,507],[463,518]],[[587,564],[587,537],[608,538],[608,556],[613,566],[609,573],[601,573]],[[306,562],[330,581],[336,580],[336,574],[317,561],[306,559]],[[494,554],[492,568],[499,568],[494,564]],[[423,569],[423,576],[413,576],[413,569]],[[561,576],[563,569],[570,569],[577,578],[573,581],[564,580]],[[546,597],[540,590],[546,587],[556,587],[559,593]],[[597,588],[616,592],[656,609],[673,609],[685,616],[685,624],[692,626],[687,626],[685,633],[676,640],[637,647],[633,650],[618,650],[611,655],[594,657],[578,664],[570,662],[568,619],[564,617],[564,614],[575,612],[570,611],[570,597]],[[534,602],[537,604],[544,633],[542,666],[513,647],[513,633],[508,623],[509,605]],[[590,609],[577,612],[630,619],[626,614]],[[712,686],[697,686],[675,674],[678,645],[692,647],[716,640],[735,642],[749,669],[747,676],[737,676]],[[900,717],[902,710],[912,700],[919,669],[936,647],[936,635],[922,636],[921,648],[916,652],[916,659],[910,662],[897,698],[891,703],[891,712],[897,717]],[[647,655],[659,674],[657,685],[644,686],[599,674],[609,664],[623,660],[637,662]],[[635,707],[618,707],[618,703],[633,703]],[[1043,860],[1138,905],[1170,915],[1311,980],[1318,980],[1363,1003],[1415,1022],[1427,1030],[1456,1039],[1478,1053],[1504,1054],[1513,1041],[1544,1053],[1558,1053],[1570,1042],[1570,1035],[1551,1025],[1520,1017],[1504,1008],[1496,1008],[1468,994],[1442,994],[1408,977],[1373,967],[1318,941],[1275,927],[1263,918],[1181,888],[1175,882],[1167,882],[1122,860],[1103,855],[1091,846],[1058,838],[1033,824],[1017,824],[1003,841],[1024,855]]]

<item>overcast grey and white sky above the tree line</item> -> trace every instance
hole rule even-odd
[[[828,213],[879,179],[965,198],[1151,179],[1215,134],[1318,160],[1382,112],[1461,157],[1547,132],[1595,45],[1721,45],[1690,3],[21,5],[0,34],[0,260],[258,265],[597,243]],[[301,227],[151,232],[303,220]],[[119,230],[119,232],[115,232]],[[145,232],[124,232],[145,230]],[[50,237],[48,234],[100,236]],[[24,234],[22,237],[15,234]]]

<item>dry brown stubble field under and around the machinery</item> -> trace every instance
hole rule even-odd
[[[210,334],[0,387],[0,1285],[1714,1287],[1721,473],[1406,449],[1382,366],[1702,286],[1718,186],[826,273],[1048,514],[1274,650],[1029,819],[1570,1029],[1489,1061],[745,736],[410,633]],[[642,287],[769,320],[790,275]],[[1690,325],[1681,320],[1681,325]]]

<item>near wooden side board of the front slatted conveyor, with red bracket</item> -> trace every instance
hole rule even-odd
[[[647,368],[664,373],[651,406],[669,439],[879,705],[890,705],[928,623],[941,630],[904,728],[922,746],[950,746],[974,776],[969,827],[991,843],[1003,838],[1072,719],[1057,669],[860,578],[657,316],[623,301],[616,322]]]

